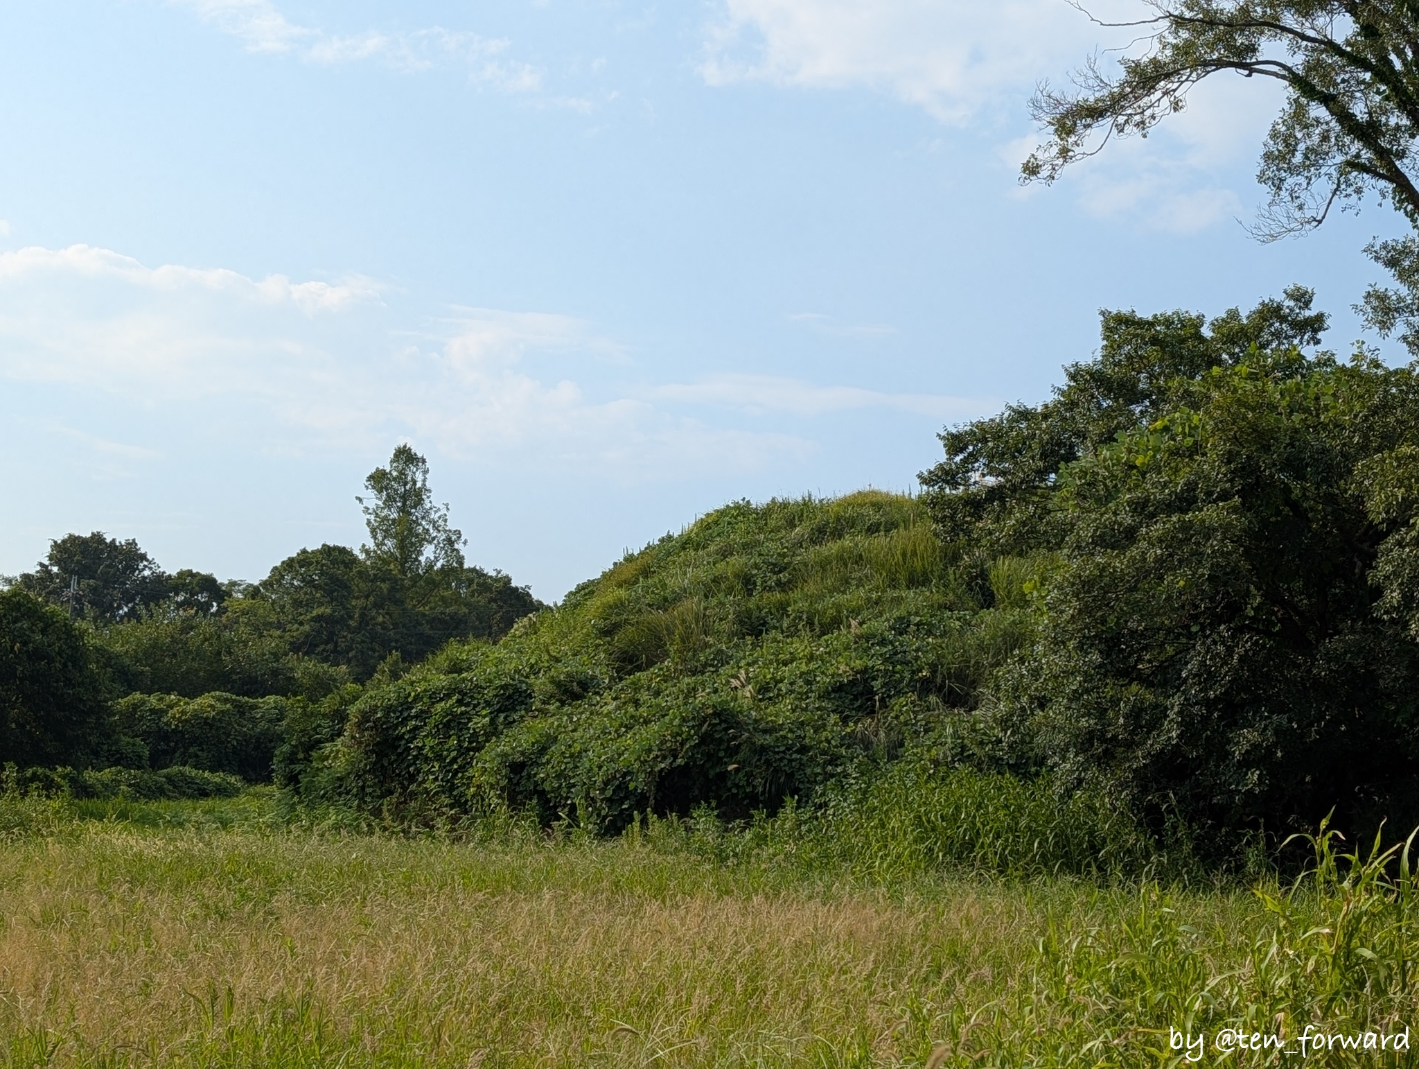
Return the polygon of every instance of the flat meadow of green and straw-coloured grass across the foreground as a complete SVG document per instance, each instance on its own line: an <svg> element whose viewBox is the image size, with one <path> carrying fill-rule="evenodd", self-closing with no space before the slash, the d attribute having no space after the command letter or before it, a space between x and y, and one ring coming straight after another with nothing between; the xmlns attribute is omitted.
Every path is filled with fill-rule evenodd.
<svg viewBox="0 0 1419 1069"><path fill-rule="evenodd" d="M263 792L0 799L0 1063L1148 1066L1178 1063L1169 1025L1393 1031L1415 1005L1393 866L1323 853L1264 896L883 882L782 849L725 862L701 842L722 835L460 842L294 828ZM1300 1062L1267 1058L1232 1060Z"/></svg>

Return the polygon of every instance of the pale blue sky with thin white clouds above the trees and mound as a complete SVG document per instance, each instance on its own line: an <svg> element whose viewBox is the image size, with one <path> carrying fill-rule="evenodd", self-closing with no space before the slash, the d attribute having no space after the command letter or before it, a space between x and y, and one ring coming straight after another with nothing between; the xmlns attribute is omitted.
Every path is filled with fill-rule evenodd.
<svg viewBox="0 0 1419 1069"><path fill-rule="evenodd" d="M1110 0L1108 14L1142 10ZM1022 190L1066 0L0 1L0 574L67 531L258 579L402 440L545 599L727 500L910 488L1100 308L1313 285L1230 80Z"/></svg>

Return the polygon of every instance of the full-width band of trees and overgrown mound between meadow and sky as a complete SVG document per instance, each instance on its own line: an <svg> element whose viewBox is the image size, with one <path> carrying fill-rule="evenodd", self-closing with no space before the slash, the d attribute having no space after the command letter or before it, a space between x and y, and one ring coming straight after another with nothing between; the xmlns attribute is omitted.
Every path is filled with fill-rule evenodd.
<svg viewBox="0 0 1419 1069"><path fill-rule="evenodd" d="M1324 329L1303 290L1107 314L1047 402L945 432L920 495L735 503L552 608L467 566L407 447L366 547L253 586L61 539L0 596L6 760L274 775L413 823L792 802L929 849L901 798L993 791L1077 823L1049 830L1076 859L1412 826L1419 371Z"/></svg>

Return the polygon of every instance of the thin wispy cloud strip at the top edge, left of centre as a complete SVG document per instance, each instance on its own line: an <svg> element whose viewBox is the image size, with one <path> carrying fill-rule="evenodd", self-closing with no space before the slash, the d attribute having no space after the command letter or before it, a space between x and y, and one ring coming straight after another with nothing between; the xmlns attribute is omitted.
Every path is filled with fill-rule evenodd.
<svg viewBox="0 0 1419 1069"><path fill-rule="evenodd" d="M507 57L509 41L430 27L413 33L368 30L328 34L291 23L271 0L169 0L245 43L253 53L292 53L316 64L382 62L397 71L461 65L470 80L507 92L541 88L541 72Z"/></svg>

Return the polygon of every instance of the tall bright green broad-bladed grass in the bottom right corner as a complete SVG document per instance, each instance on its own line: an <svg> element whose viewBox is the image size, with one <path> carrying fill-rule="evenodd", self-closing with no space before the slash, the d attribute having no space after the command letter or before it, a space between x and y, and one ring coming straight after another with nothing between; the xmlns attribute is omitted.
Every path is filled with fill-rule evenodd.
<svg viewBox="0 0 1419 1069"><path fill-rule="evenodd" d="M1198 924L1183 896L1156 884L1083 928L1049 917L1029 984L958 1012L938 1065L1419 1063L1412 836L1368 855L1342 853L1325 828L1307 838L1314 865L1256 887L1261 910L1242 930Z"/></svg>

